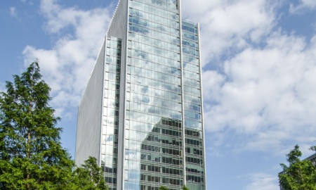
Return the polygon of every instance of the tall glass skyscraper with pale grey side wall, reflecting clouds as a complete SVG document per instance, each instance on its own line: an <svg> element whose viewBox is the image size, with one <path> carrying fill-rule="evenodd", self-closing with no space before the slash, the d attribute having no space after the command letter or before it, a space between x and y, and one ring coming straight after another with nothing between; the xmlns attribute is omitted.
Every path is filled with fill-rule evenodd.
<svg viewBox="0 0 316 190"><path fill-rule="evenodd" d="M199 25L180 0L121 0L81 100L76 163L110 189L206 189Z"/></svg>

